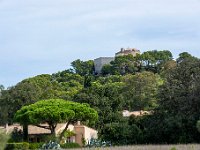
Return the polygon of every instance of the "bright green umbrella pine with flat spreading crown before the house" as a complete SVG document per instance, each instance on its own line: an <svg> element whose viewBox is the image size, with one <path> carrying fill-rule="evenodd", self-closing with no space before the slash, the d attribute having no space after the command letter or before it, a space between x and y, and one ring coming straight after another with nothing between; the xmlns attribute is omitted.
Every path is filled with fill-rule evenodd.
<svg viewBox="0 0 200 150"><path fill-rule="evenodd" d="M24 127L27 128L29 124L33 124L49 129L53 135L58 123L67 122L61 137L67 131L69 124L74 124L77 121L96 121L97 118L97 112L90 108L88 104L79 104L62 99L38 101L34 104L23 106L15 114L15 121ZM48 126L42 126L40 125L41 123L47 123ZM27 131L24 132L26 132L25 136L27 136Z"/></svg>

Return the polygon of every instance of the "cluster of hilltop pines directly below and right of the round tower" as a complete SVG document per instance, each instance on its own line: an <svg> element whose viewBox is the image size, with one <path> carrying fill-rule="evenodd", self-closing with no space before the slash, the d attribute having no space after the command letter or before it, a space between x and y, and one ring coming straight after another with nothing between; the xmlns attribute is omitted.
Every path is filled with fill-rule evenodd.
<svg viewBox="0 0 200 150"><path fill-rule="evenodd" d="M135 57L132 55L118 56L110 65L103 66L102 74L124 75L142 71L160 73L163 65L172 59L172 53L168 50L146 51Z"/></svg>

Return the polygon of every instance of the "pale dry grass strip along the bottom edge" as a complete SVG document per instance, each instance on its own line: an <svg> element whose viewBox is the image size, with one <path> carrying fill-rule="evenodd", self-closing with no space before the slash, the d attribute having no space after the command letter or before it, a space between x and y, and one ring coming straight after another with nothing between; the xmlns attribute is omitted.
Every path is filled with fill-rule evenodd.
<svg viewBox="0 0 200 150"><path fill-rule="evenodd" d="M84 148L76 150L200 150L200 145L137 145L106 148Z"/></svg>

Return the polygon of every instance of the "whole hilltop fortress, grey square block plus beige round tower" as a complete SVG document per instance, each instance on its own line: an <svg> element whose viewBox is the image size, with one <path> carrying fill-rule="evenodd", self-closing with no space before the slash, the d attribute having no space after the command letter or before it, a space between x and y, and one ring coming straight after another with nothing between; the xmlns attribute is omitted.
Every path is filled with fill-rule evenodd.
<svg viewBox="0 0 200 150"><path fill-rule="evenodd" d="M126 48L126 49L121 48L119 52L115 53L115 57L125 56L130 54L135 57L137 54L140 54L140 50L136 48ZM110 64L111 61L114 61L115 57L99 57L94 59L95 73L100 74L102 67L106 64Z"/></svg>

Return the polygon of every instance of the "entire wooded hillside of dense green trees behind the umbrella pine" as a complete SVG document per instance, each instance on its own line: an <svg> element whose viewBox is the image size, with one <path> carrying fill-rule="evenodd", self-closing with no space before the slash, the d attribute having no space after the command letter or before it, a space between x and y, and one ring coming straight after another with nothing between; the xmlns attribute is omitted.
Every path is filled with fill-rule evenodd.
<svg viewBox="0 0 200 150"><path fill-rule="evenodd" d="M72 68L1 87L0 123L13 123L22 106L62 98L88 103L99 114L99 137L117 145L198 143L200 59L184 52L147 51L116 57L94 73L94 62L75 60ZM122 111L150 111L123 117ZM87 122L85 122L87 124ZM88 124L90 125L90 124Z"/></svg>

